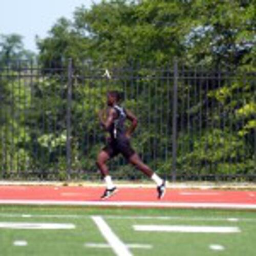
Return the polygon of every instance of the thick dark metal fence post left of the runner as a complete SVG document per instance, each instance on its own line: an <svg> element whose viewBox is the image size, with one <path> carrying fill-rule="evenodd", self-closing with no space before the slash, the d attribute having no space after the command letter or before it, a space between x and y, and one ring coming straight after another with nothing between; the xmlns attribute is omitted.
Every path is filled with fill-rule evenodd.
<svg viewBox="0 0 256 256"><path fill-rule="evenodd" d="M72 104L72 59L69 59L68 63L68 90L67 90L67 142L66 142L66 151L67 151L67 175L68 179L71 178L71 104Z"/></svg>

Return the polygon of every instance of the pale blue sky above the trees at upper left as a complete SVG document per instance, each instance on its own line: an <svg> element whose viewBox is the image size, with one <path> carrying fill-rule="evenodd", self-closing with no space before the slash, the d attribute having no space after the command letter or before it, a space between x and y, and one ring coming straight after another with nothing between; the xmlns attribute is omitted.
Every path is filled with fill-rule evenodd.
<svg viewBox="0 0 256 256"><path fill-rule="evenodd" d="M26 50L37 52L35 36L45 38L60 17L72 19L76 7L90 8L101 0L2 0L0 34L23 36Z"/></svg>

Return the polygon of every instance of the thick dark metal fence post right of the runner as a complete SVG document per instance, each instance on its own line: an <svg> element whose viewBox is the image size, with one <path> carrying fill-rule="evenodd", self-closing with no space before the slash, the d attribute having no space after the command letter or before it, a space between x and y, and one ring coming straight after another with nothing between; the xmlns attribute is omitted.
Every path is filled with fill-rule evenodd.
<svg viewBox="0 0 256 256"><path fill-rule="evenodd" d="M172 181L176 181L177 163L177 107L178 107L178 60L174 59L174 87L173 87L173 134L172 134Z"/></svg>

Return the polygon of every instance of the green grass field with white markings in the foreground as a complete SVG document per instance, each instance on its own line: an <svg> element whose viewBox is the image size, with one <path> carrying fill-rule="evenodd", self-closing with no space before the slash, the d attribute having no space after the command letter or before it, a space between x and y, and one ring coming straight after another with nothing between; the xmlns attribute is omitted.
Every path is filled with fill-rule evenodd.
<svg viewBox="0 0 256 256"><path fill-rule="evenodd" d="M102 217L129 248L131 255L249 256L256 253L255 211L0 206L0 254L118 255L109 246L92 216ZM73 224L74 228L11 229L3 227L3 223ZM138 231L135 225L235 227L239 232ZM27 244L17 246L15 241L26 241Z"/></svg>

